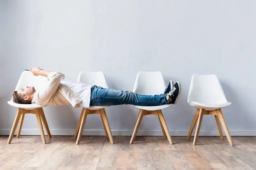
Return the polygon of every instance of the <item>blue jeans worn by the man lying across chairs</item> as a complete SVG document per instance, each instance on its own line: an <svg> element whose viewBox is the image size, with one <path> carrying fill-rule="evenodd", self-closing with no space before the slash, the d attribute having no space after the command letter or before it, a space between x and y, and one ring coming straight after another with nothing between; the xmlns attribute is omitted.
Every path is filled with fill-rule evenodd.
<svg viewBox="0 0 256 170"><path fill-rule="evenodd" d="M137 105L137 106L158 106L170 104L164 94L141 95L131 91L119 91L114 89L97 87L91 88L90 106L106 105Z"/></svg>

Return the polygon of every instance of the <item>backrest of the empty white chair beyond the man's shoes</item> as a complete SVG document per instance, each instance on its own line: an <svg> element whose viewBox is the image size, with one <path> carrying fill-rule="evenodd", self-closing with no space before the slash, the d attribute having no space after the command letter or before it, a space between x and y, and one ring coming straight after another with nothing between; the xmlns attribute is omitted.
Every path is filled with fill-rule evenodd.
<svg viewBox="0 0 256 170"><path fill-rule="evenodd" d="M227 102L217 76L194 74L189 87L188 102L220 104Z"/></svg>

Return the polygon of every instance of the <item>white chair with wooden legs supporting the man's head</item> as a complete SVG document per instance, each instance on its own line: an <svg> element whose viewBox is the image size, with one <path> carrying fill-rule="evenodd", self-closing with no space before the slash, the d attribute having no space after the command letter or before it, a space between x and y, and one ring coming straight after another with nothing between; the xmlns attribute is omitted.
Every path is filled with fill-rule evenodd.
<svg viewBox="0 0 256 170"><path fill-rule="evenodd" d="M24 88L26 85L34 86L35 89L38 89L41 86L43 86L45 83L47 83L47 81L48 81L47 77L34 76L30 71L23 71L20 76L20 79L17 83L17 86L15 88L15 91L19 90L20 88ZM18 111L17 111L16 117L15 117L15 121L13 123L12 130L11 130L7 144L10 144L12 142L12 137L15 133L15 130L16 130L16 127L17 127L17 124L19 121L20 121L20 124L19 124L18 131L17 131L17 138L20 137L20 131L22 128L23 119L24 119L24 116L26 113L32 113L32 114L36 115L39 130L41 133L41 138L42 138L42 141L44 144L46 143L46 140L45 140L45 136L44 136L44 129L42 126L41 118L43 120L47 135L49 136L49 138L52 138L45 115L44 115L44 111L43 111L43 107L45 107L46 105L43 106L43 105L38 105L38 104L17 104L15 102L13 102L12 99L10 101L8 101L8 104L18 108Z"/></svg>

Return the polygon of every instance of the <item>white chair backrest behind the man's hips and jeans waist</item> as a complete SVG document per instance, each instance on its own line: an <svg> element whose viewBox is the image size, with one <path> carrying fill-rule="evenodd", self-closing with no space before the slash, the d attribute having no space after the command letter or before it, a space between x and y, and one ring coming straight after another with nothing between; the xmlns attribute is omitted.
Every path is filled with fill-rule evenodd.
<svg viewBox="0 0 256 170"><path fill-rule="evenodd" d="M91 86L96 85L102 88L108 88L107 80L102 71L98 72L85 72L81 71L77 82L83 82L90 84Z"/></svg>

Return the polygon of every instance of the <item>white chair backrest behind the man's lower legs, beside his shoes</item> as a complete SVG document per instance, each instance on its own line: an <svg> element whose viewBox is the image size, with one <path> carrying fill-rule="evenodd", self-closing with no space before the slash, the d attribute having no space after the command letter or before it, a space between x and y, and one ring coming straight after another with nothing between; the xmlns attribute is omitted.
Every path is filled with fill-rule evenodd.
<svg viewBox="0 0 256 170"><path fill-rule="evenodd" d="M166 87L163 74L160 71L139 71L134 83L133 92L145 95L163 94Z"/></svg>

